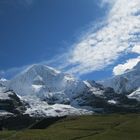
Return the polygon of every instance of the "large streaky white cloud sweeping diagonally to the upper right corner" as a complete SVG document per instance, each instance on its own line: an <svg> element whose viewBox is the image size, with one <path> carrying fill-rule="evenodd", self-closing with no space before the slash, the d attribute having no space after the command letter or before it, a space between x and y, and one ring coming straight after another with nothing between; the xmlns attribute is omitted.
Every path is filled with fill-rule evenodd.
<svg viewBox="0 0 140 140"><path fill-rule="evenodd" d="M116 0L110 4L113 4L112 9L99 30L91 27L90 32L68 52L69 57L65 63L73 65L68 72L81 75L101 70L128 53L139 42L140 1Z"/></svg>

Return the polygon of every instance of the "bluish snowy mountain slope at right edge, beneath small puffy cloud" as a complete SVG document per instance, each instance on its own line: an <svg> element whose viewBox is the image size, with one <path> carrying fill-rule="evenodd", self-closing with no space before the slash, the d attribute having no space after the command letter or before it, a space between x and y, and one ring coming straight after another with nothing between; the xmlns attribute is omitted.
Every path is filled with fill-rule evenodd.
<svg viewBox="0 0 140 140"><path fill-rule="evenodd" d="M140 62L124 74L100 82L105 87L112 87L116 93L130 94L140 87Z"/></svg>

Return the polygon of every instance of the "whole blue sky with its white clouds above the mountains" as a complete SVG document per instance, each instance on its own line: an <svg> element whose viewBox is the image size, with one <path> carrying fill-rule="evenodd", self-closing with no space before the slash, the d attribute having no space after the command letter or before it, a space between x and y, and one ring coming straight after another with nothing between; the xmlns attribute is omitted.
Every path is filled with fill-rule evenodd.
<svg viewBox="0 0 140 140"><path fill-rule="evenodd" d="M33 63L82 79L120 74L140 60L139 8L137 0L0 0L1 75Z"/></svg>

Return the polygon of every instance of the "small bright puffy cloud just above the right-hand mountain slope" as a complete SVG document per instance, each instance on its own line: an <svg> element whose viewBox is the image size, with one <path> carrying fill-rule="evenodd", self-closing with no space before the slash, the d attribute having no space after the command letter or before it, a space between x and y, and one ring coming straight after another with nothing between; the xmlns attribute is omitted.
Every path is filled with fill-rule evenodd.
<svg viewBox="0 0 140 140"><path fill-rule="evenodd" d="M114 75L123 74L126 70L132 69L137 63L140 62L140 57L127 60L124 64L119 64L113 69Z"/></svg>

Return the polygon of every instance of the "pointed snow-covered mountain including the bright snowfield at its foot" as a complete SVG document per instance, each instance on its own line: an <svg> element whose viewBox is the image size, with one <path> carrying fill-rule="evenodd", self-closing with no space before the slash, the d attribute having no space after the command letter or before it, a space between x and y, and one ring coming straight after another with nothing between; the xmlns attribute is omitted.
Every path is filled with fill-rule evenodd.
<svg viewBox="0 0 140 140"><path fill-rule="evenodd" d="M91 113L88 106L79 106L91 87L88 82L74 78L46 65L32 65L6 83L21 100L29 104L30 115L61 116ZM94 89L96 94L102 90ZM93 90L93 89L92 89ZM88 109L87 109L88 108Z"/></svg>

